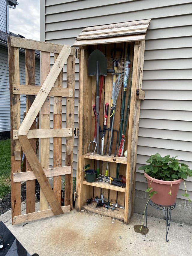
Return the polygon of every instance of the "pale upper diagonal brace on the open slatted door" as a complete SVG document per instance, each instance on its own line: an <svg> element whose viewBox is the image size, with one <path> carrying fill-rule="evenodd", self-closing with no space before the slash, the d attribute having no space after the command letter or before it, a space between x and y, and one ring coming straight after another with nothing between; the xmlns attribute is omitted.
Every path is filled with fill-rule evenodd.
<svg viewBox="0 0 192 256"><path fill-rule="evenodd" d="M49 74L47 75L41 90L35 98L32 106L30 107L28 113L26 114L25 119L23 120L21 126L19 127L19 135L26 135L31 127L33 121L38 115L44 101L46 100L47 95L49 94L52 84L55 83L60 71L62 70L67 58L70 54L71 47L63 46L57 60L52 66Z"/></svg>

